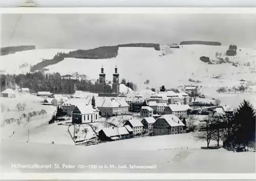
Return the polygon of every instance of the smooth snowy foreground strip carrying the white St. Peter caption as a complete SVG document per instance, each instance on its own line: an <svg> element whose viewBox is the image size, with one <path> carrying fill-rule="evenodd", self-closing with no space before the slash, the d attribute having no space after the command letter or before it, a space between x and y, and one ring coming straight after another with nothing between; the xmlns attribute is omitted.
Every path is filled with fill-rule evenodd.
<svg viewBox="0 0 256 181"><path fill-rule="evenodd" d="M125 150L41 143L1 142L1 170L24 173L123 172L123 173L251 173L255 153L220 150ZM14 165L16 164L16 165ZM48 168L18 168L20 165L47 165ZM65 164L65 165L62 165ZM69 165L70 164L70 165ZM152 169L118 168L131 165ZM78 169L80 165L80 168ZM97 165L97 168L95 167ZM17 166L17 167L15 167ZM64 166L64 167L63 167ZM74 168L72 167L74 166ZM99 168L99 167L103 168ZM108 166L108 168L104 168ZM110 168L114 166L116 168ZM51 167L51 168L50 168ZM59 168L58 168L59 167ZM89 168L90 167L90 168Z"/></svg>

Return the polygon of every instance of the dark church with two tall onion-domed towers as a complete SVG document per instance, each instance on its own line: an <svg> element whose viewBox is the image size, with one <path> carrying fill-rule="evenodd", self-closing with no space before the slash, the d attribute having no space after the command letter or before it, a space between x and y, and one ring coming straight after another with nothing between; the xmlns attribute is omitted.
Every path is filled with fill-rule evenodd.
<svg viewBox="0 0 256 181"><path fill-rule="evenodd" d="M119 84L119 74L117 65L115 67L115 72L113 74L112 86L106 84L106 74L104 73L104 67L102 65L101 72L99 74L99 84L98 84L98 95L99 97L117 97L120 94L120 84Z"/></svg>

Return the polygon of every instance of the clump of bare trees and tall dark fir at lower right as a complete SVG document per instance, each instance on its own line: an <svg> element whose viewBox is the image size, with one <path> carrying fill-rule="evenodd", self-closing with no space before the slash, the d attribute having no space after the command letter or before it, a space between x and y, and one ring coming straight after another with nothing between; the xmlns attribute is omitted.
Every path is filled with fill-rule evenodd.
<svg viewBox="0 0 256 181"><path fill-rule="evenodd" d="M199 124L199 131L195 133L197 140L207 142L225 141L225 146L234 148L236 145L247 146L250 141L255 142L255 111L249 101L243 101L239 108L229 115L212 115L208 120Z"/></svg>

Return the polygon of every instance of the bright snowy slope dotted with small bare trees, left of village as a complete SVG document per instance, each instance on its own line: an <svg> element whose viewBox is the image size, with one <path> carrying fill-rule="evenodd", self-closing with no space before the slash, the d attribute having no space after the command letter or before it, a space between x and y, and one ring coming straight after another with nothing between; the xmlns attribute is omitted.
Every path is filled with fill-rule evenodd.
<svg viewBox="0 0 256 181"><path fill-rule="evenodd" d="M39 101L42 99L43 98L30 94L16 94L16 98L1 97L0 102L4 107L3 111L1 112L1 139L3 140L8 138L13 133L13 131L15 134L18 134L19 131L24 132L25 130L27 131L28 129L33 129L37 126L40 126L41 124L48 123L53 115L53 112L56 111L56 107L41 105ZM24 111L18 111L16 108L18 103L26 104ZM33 116L29 122L27 121L26 117L20 120L20 125L18 125L16 121L11 124L7 124L5 122L6 119L18 119L22 117L23 114L28 115L28 112L40 111L41 109L45 109L47 114Z"/></svg>

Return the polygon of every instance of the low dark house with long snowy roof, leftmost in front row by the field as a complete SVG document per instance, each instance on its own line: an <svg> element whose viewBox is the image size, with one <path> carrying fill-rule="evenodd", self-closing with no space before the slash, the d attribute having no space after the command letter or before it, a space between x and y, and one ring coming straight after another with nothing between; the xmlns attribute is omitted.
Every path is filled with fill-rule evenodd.
<svg viewBox="0 0 256 181"><path fill-rule="evenodd" d="M123 127L103 128L98 132L98 138L101 141L114 141L129 136L130 133Z"/></svg>

